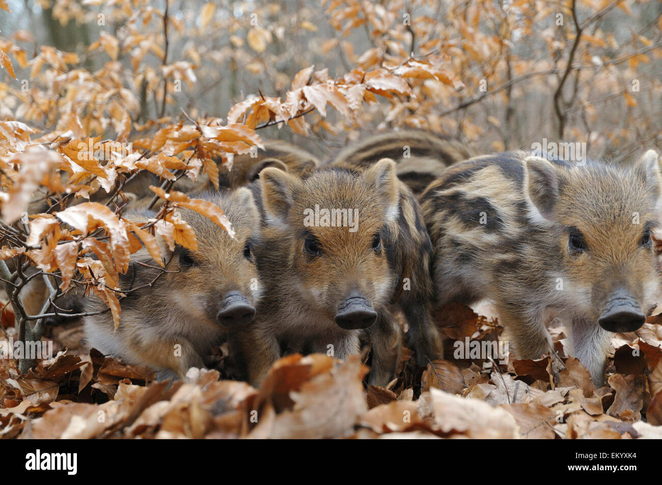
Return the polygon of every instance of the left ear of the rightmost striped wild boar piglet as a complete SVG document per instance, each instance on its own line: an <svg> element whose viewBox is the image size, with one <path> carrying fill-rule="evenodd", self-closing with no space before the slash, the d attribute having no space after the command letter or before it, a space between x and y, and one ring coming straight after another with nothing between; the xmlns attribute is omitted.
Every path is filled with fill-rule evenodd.
<svg viewBox="0 0 662 485"><path fill-rule="evenodd" d="M551 161L530 156L524 159L524 195L533 222L547 225L559 197L559 173Z"/></svg>

